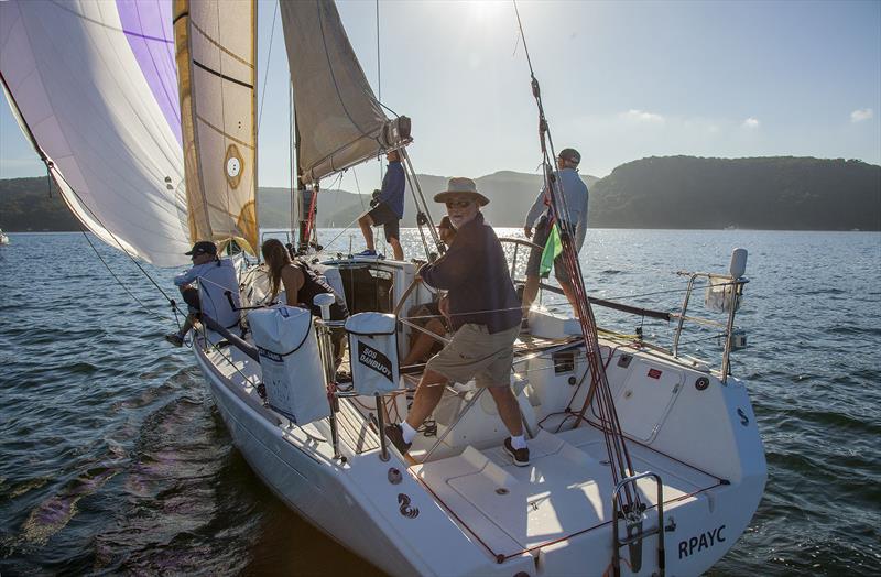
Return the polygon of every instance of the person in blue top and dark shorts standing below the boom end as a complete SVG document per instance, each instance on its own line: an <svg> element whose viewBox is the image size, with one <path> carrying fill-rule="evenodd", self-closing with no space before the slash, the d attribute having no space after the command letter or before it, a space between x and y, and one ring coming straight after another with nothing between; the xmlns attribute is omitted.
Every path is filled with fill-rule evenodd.
<svg viewBox="0 0 881 577"><path fill-rule="evenodd" d="M404 217L404 167L401 165L401 155L396 150L385 154L389 161L389 168L382 178L382 189L374 203L370 203L373 208L358 218L358 226L365 236L367 250L358 253L358 257L376 257L377 250L373 244L373 230L370 227L382 225L385 232L385 242L392 246L394 260L404 260L404 251L401 249L401 219Z"/></svg>

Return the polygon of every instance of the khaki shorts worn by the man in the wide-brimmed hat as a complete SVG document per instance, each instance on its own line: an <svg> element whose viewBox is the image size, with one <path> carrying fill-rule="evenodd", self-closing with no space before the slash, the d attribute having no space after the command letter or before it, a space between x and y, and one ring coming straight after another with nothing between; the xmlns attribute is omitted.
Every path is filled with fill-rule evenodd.
<svg viewBox="0 0 881 577"><path fill-rule="evenodd" d="M520 325L490 334L485 325L465 324L425 368L457 383L475 379L477 387L508 387L518 335Z"/></svg>

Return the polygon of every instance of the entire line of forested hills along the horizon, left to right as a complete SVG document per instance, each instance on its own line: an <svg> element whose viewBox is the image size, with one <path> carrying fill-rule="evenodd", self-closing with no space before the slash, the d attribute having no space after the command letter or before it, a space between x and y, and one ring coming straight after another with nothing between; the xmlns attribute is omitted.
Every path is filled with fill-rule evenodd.
<svg viewBox="0 0 881 577"><path fill-rule="evenodd" d="M622 164L602 179L583 179L590 188L595 228L881 230L881 166L861 161L649 157ZM540 176L510 171L476 181L491 200L485 211L496 226L522 226L541 187ZM421 175L420 182L431 203L446 177ZM367 194L325 190L319 196L319 225L345 227L368 200ZM285 189L261 188L261 226L286 228L289 206ZM403 226L415 226L410 193L405 207ZM435 218L440 214L438 206ZM55 190L50 197L45 177L0 181L0 228L79 230L59 194Z"/></svg>

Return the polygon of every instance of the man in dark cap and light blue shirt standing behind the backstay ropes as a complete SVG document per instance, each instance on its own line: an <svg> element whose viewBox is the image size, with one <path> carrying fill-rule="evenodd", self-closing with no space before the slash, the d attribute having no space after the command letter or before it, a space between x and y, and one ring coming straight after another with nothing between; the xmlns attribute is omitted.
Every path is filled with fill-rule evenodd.
<svg viewBox="0 0 881 577"><path fill-rule="evenodd" d="M587 199L588 192L581 177L578 175L578 164L581 162L581 155L575 149L563 149L557 155L557 171L556 177L558 186L563 189L565 196L565 208L567 214L558 215L559 219L557 226L561 233L566 232L569 238L575 242L575 252L581 250L581 244L585 242L585 233L587 232ZM559 190L557 190L558 193ZM559 207L562 211L563 206ZM539 221L537 225L535 221ZM532 227L535 226L535 238L532 236ZM544 248L547 242L547 237L551 235L551 218L550 210L545 204L545 189L539 193L535 202L532 204L530 211L526 214L526 221L523 227L523 232L527 239L532 239L535 244ZM535 295L539 293L539 265L542 261L542 249L532 249L530 253L529 263L526 263L526 286L523 288L523 317L525 318L535 301ZM563 254L554 259L554 275L559 283L563 293L569 301L573 311L577 311L575 306L575 290L573 288L569 273L566 271L566 265Z"/></svg>

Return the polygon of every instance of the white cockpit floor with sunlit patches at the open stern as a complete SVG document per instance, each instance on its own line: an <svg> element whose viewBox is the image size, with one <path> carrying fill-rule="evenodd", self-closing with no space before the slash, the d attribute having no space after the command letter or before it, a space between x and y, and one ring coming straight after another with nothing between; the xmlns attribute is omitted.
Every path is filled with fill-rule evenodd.
<svg viewBox="0 0 881 577"><path fill-rule="evenodd" d="M719 479L643 446L630 444L638 472L664 482L665 510L703 501ZM415 465L411 471L493 556L510 557L611 521L613 483L602 433L583 426L530 440L531 465L516 467L501 447ZM642 502L656 504L651 479L638 481Z"/></svg>

